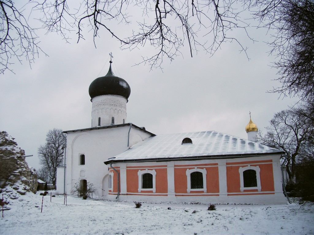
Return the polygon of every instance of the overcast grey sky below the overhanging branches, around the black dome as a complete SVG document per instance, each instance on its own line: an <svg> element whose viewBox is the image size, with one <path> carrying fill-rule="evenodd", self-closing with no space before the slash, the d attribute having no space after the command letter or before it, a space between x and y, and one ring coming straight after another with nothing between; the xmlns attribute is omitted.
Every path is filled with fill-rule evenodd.
<svg viewBox="0 0 314 235"><path fill-rule="evenodd" d="M249 49L250 60L239 53L236 43L225 43L213 57L203 51L189 55L187 47L170 63L164 60L163 70L150 71L149 65L133 66L142 55L151 55L151 48L120 50L120 44L102 33L71 44L57 34L39 32L40 54L31 64L11 66L15 74L0 75L0 130L15 138L25 150L26 160L35 169L37 149L45 144L49 129L72 130L91 126L92 103L88 94L90 83L106 75L109 53L113 71L131 87L126 122L144 126L154 134L215 130L247 138L249 112L259 129L268 126L275 112L294 105L297 98L279 98L267 93L278 86L276 70L271 68L273 56L263 41L265 31L250 29L258 42L242 38Z"/></svg>

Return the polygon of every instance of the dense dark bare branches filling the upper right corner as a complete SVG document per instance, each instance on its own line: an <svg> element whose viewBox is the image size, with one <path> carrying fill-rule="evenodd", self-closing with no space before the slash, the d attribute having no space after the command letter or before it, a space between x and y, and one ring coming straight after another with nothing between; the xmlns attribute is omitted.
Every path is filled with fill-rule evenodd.
<svg viewBox="0 0 314 235"><path fill-rule="evenodd" d="M314 99L314 2L312 0L256 0L255 17L261 27L275 30L271 53L277 55L281 86L273 89L284 95Z"/></svg>

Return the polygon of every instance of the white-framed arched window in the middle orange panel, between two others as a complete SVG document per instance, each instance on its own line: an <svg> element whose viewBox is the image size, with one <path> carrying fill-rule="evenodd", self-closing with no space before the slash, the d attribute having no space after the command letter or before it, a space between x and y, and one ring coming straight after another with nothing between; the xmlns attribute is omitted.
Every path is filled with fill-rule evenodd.
<svg viewBox="0 0 314 235"><path fill-rule="evenodd" d="M204 191L207 192L206 187L206 169L193 168L187 169L187 193L191 191Z"/></svg>

